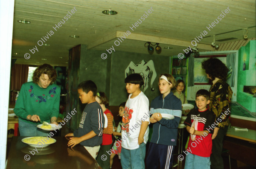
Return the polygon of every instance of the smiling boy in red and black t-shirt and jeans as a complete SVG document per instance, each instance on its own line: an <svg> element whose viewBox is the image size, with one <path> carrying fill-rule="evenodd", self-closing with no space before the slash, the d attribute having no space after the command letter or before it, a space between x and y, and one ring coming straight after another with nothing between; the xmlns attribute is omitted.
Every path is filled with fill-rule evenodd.
<svg viewBox="0 0 256 169"><path fill-rule="evenodd" d="M189 138L185 169L210 169L213 130L207 127L215 121L215 115L207 109L207 104L210 103L210 93L204 89L198 90L195 103L197 108L192 109L184 121L186 130L192 136L195 135L195 139L192 136Z"/></svg>

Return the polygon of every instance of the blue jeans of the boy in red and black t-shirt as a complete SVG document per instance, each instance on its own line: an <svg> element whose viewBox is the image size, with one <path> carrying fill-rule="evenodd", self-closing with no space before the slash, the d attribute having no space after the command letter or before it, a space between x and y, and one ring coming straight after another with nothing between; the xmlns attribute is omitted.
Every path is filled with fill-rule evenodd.
<svg viewBox="0 0 256 169"><path fill-rule="evenodd" d="M211 162L209 157L201 157L189 153L186 155L184 169L210 169Z"/></svg>

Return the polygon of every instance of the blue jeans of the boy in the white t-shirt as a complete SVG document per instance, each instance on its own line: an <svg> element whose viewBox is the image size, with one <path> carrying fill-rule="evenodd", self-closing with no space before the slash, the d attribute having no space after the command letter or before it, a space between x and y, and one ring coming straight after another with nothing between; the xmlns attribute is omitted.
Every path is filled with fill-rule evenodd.
<svg viewBox="0 0 256 169"><path fill-rule="evenodd" d="M137 149L121 150L122 169L145 169L146 144L143 142Z"/></svg>

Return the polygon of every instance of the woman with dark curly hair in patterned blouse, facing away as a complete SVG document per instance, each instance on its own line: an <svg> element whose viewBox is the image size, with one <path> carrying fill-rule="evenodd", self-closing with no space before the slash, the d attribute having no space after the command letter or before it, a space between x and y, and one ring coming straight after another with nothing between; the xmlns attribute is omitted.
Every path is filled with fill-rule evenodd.
<svg viewBox="0 0 256 169"><path fill-rule="evenodd" d="M230 85L226 83L228 68L217 58L210 58L202 62L202 68L205 70L209 81L212 82L209 90L209 110L216 116L214 133L212 134L211 168L224 169L221 157L222 143L230 124L230 102L233 94Z"/></svg>

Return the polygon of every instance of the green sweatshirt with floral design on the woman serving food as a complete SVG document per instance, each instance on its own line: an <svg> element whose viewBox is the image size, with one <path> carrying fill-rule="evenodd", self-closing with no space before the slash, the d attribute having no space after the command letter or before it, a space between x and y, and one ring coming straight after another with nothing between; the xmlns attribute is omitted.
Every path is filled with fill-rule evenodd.
<svg viewBox="0 0 256 169"><path fill-rule="evenodd" d="M27 123L35 124L26 119L28 115L39 115L41 121L49 122L52 117L58 117L60 93L60 87L55 84L44 89L33 82L26 82L21 86L14 112Z"/></svg>

